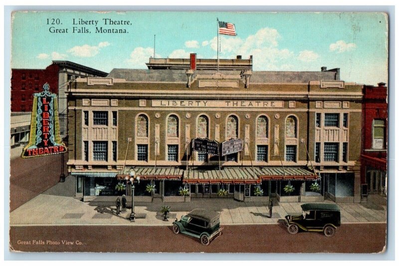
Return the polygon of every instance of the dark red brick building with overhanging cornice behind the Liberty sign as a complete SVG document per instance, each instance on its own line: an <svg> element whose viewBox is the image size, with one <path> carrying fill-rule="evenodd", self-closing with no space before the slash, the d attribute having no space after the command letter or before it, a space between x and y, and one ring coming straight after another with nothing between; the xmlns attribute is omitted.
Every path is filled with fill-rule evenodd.
<svg viewBox="0 0 399 266"><path fill-rule="evenodd" d="M70 81L79 77L105 77L107 73L69 61L52 61L45 69L11 70L11 112L31 112L33 94L42 91L45 83L58 94L60 133L66 134L66 96Z"/></svg>

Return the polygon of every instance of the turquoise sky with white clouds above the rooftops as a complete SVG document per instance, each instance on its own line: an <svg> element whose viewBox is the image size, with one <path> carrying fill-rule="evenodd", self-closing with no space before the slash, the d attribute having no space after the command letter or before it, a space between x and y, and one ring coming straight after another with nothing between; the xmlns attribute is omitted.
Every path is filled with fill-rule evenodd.
<svg viewBox="0 0 399 266"><path fill-rule="evenodd" d="M347 82L388 83L388 17L373 12L16 12L11 67L68 60L105 72L145 69L154 35L157 58L216 58L216 18L234 23L237 32L220 35L220 58L252 55L258 71L340 68Z"/></svg>

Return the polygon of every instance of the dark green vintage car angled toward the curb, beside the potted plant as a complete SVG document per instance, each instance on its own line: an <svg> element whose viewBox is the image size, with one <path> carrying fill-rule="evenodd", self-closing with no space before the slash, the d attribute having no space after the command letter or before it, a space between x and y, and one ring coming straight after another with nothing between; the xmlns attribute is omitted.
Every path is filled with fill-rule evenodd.
<svg viewBox="0 0 399 266"><path fill-rule="evenodd" d="M205 209L194 209L182 219L173 223L175 234L185 234L199 238L202 245L209 245L210 241L221 236L220 214Z"/></svg>

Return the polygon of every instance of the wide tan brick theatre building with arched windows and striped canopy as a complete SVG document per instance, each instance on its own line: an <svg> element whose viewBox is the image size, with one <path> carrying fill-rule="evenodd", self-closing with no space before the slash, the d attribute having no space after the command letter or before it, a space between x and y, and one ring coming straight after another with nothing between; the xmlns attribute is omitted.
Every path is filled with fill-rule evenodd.
<svg viewBox="0 0 399 266"><path fill-rule="evenodd" d="M181 69L113 69L73 82L68 170L76 197L129 195L125 177L134 170L137 201L360 202L361 85L341 81L339 69L220 64L226 68L199 70L194 57Z"/></svg>

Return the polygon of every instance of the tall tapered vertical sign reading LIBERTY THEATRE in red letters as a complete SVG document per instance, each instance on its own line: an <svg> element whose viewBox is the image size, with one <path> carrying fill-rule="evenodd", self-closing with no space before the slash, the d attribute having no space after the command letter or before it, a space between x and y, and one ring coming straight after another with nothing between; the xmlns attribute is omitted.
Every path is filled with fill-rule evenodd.
<svg viewBox="0 0 399 266"><path fill-rule="evenodd" d="M64 153L67 150L59 133L57 95L49 89L46 83L41 93L33 94L29 143L22 150L22 158Z"/></svg>

